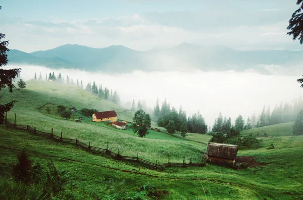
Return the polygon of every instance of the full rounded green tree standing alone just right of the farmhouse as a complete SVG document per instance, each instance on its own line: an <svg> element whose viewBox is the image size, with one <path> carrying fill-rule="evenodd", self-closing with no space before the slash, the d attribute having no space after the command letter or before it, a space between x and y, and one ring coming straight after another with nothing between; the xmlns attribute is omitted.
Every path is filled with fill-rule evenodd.
<svg viewBox="0 0 303 200"><path fill-rule="evenodd" d="M134 134L138 134L139 137L143 138L148 135L148 127L150 126L150 116L146 114L142 109L135 112L133 117L133 123L130 126Z"/></svg>

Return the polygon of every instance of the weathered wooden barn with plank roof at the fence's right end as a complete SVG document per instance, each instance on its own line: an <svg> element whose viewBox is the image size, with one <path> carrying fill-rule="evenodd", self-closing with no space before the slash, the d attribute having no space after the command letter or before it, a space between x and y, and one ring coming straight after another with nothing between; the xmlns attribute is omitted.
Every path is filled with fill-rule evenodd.
<svg viewBox="0 0 303 200"><path fill-rule="evenodd" d="M237 145L209 142L206 155L210 161L235 162L238 152Z"/></svg>

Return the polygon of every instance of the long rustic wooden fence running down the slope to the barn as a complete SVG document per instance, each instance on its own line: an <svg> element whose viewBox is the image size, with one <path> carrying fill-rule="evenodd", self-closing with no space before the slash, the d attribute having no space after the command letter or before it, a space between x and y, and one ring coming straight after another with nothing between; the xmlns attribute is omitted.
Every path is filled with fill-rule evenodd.
<svg viewBox="0 0 303 200"><path fill-rule="evenodd" d="M163 168L166 168L166 167L189 167L189 166L200 166L200 167L204 167L206 164L205 162L203 163L193 163L191 162L191 159L190 159L190 162L189 163L185 163L185 158L183 158L183 163L172 163L170 162L170 156L168 155L168 163L157 163L157 160L155 163L152 163L152 162L149 162L149 161L146 161L146 160L143 160L141 158L139 158L138 154L137 154L137 157L132 157L132 156L123 156L119 153L119 150L118 150L118 153L115 153L115 152L112 152L108 149L108 145L106 147L106 149L103 149L103 148L99 148L99 147L93 147L93 146L90 146L90 143L87 145L87 144L84 144L82 142L80 142L78 140L78 138L75 139L68 139L68 138L63 138L62 137L62 132L61 132L61 136L56 136L55 134L53 134L53 128L52 128L52 132L43 132L43 131L40 131L40 130L37 130L36 127L31 127L29 125L27 126L22 126L22 125L17 125L16 124L16 116L15 116L15 122L14 123L11 123L9 122L8 120L6 120L6 125L7 126L10 126L10 127L14 127L16 129L21 129L21 130L27 130L29 131L31 134L34 134L34 135L37 135L37 136L43 136L43 137L47 137L49 139L52 139L54 141L57 141L57 142L61 142L61 143L69 143L69 144L74 144L92 154L102 154L102 155L109 155L111 156L113 159L116 159L116 160L122 160L122 161L130 161L130 162L136 162L136 163L140 163L141 165L145 166L145 167L148 167L150 169L163 169Z"/></svg>

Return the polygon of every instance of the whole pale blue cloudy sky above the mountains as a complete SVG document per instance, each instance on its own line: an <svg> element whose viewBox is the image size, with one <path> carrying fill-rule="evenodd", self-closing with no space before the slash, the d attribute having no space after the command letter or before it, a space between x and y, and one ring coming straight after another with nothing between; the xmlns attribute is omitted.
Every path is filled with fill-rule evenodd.
<svg viewBox="0 0 303 200"><path fill-rule="evenodd" d="M303 50L286 35L296 0L2 0L1 32L25 52L64 44L135 50L183 42Z"/></svg>

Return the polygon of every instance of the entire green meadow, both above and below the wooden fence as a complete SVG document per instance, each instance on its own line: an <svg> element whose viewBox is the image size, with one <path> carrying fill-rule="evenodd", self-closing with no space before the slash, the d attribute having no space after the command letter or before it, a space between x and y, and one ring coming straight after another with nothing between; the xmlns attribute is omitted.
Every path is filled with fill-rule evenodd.
<svg viewBox="0 0 303 200"><path fill-rule="evenodd" d="M63 131L64 138L78 138L96 147L105 148L108 143L111 151L119 149L122 155L136 156L139 153L140 158L164 163L168 161L169 154L171 162L182 162L183 157L186 162L190 158L199 162L206 151L206 145L162 132L150 130L146 138L139 138L130 128L118 130L106 123L92 122L89 118L79 123L59 118L56 112L47 114L43 108L38 109L51 102L66 107L72 105L77 109L125 110L73 86L28 81L26 89L14 89L13 93L2 90L0 95L4 95L2 100L7 102L17 100L8 113L11 122L17 113L17 124L28 124L47 132L53 127L56 135ZM118 114L118 118L131 121L132 115L132 112L125 111L121 112L121 117ZM254 135L266 131L273 136L262 139L258 149L242 148L238 151L238 156L253 156L260 162L258 167L234 170L208 163L206 167L166 168L164 171L92 155L72 144L59 144L29 135L27 131L0 125L0 171L3 172L0 173L0 199L37 199L39 196L39 188L21 187L10 179L12 165L25 147L34 163L45 166L48 160L52 160L58 169L69 173L74 186L66 185L66 193L59 199L156 199L140 189L147 184L168 192L158 199L303 199L303 136L290 135L291 125L284 123L248 130ZM248 134L248 131L243 134ZM207 143L210 138L208 135L188 134L188 139L200 142ZM267 149L271 144L275 148ZM22 188L26 188L26 195L21 193Z"/></svg>

